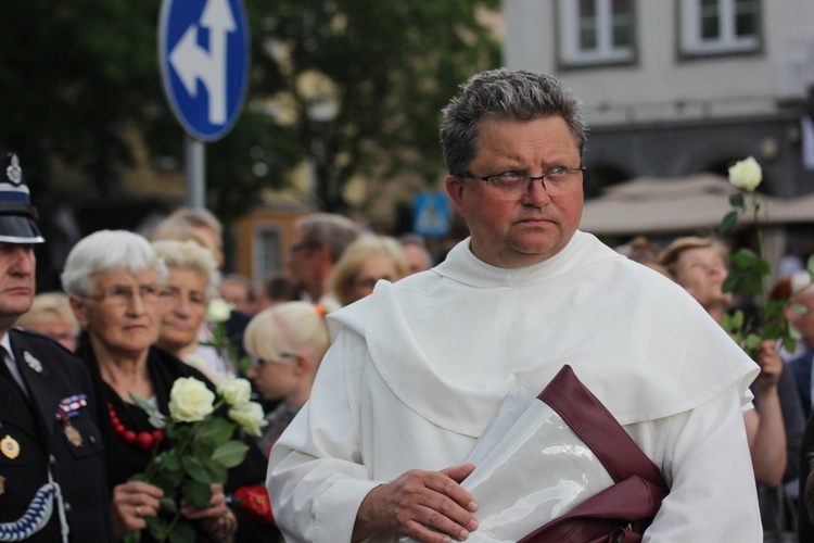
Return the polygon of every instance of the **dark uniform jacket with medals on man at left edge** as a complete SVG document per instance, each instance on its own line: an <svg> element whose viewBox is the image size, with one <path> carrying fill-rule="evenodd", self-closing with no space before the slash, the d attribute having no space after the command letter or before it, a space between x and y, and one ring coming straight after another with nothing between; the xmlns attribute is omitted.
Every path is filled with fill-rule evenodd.
<svg viewBox="0 0 814 543"><path fill-rule="evenodd" d="M0 439L8 435L20 451L14 458L0 454L0 522L20 519L48 482L50 465L62 489L71 541L112 541L104 446L88 371L73 353L44 336L12 329L9 339L28 399L0 378ZM62 400L79 394L88 405L69 419L81 435L81 445L75 446L58 414ZM26 541L61 541L56 508L43 529Z"/></svg>

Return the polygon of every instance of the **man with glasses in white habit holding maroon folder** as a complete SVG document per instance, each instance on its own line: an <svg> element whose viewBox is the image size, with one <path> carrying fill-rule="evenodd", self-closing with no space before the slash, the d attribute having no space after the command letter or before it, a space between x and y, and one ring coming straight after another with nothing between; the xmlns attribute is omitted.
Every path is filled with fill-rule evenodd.
<svg viewBox="0 0 814 543"><path fill-rule="evenodd" d="M670 488L645 541L761 541L741 415L758 368L683 289L577 230L578 105L550 76L497 70L444 110L470 237L329 317L310 402L269 458L288 541L476 539L468 457L507 395L564 365Z"/></svg>

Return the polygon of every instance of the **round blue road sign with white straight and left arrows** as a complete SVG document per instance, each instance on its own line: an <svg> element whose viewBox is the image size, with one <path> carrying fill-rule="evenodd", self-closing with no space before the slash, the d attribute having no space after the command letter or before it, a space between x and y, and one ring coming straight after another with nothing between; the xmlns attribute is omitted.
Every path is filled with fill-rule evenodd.
<svg viewBox="0 0 814 543"><path fill-rule="evenodd" d="M164 0L158 63L185 130L201 141L224 137L238 119L249 77L242 0Z"/></svg>

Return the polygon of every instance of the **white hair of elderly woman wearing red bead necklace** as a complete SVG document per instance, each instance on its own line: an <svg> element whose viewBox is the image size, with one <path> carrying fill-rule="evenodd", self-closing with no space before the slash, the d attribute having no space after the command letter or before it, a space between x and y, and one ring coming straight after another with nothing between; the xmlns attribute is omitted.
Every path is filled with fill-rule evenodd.
<svg viewBox="0 0 814 543"><path fill-rule="evenodd" d="M162 286L167 279L167 267L142 236L127 230L99 230L71 250L60 276L62 289L87 298L93 292L99 274L118 269L133 275L155 270Z"/></svg>

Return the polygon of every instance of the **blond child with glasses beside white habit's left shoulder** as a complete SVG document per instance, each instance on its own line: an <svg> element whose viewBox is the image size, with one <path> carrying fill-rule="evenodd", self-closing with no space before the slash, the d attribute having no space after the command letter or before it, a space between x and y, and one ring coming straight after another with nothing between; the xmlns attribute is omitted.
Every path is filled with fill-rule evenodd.
<svg viewBox="0 0 814 543"><path fill-rule="evenodd" d="M330 344L325 312L308 302L287 302L262 311L243 336L252 356L249 377L266 400L279 400L266 415L269 422L258 438L268 456L277 438L308 401L317 368Z"/></svg>

